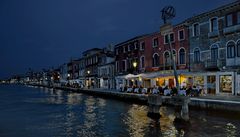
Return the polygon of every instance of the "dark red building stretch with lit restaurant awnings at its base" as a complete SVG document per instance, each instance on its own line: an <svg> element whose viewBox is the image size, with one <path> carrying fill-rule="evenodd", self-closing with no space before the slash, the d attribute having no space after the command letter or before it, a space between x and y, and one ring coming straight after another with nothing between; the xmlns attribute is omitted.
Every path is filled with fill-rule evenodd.
<svg viewBox="0 0 240 137"><path fill-rule="evenodd" d="M115 51L117 88L121 84L175 86L171 53L180 74L180 84L185 86L187 83L188 78L184 74L189 69L189 42L188 29L184 23L173 27L170 24L163 25L159 32L117 44Z"/></svg>

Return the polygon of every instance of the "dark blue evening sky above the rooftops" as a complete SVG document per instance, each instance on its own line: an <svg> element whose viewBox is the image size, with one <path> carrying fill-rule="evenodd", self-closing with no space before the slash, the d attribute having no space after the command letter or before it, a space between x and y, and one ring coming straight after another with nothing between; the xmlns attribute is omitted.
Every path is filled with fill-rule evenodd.
<svg viewBox="0 0 240 137"><path fill-rule="evenodd" d="M84 50L158 31L234 0L0 0L0 78L58 66Z"/></svg>

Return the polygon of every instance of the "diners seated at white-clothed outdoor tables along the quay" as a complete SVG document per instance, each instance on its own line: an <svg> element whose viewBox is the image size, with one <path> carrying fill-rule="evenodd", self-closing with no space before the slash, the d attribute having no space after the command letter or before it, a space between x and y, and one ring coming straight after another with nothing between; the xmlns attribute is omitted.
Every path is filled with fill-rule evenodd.
<svg viewBox="0 0 240 137"><path fill-rule="evenodd" d="M137 86L127 86L120 87L121 92L127 93L139 93L139 94L160 94L164 96L174 96L174 95L182 95L182 96L199 96L203 93L203 89L200 86L189 86L189 87L181 87L178 91L176 87L169 86L153 86L150 88L144 88L142 85Z"/></svg>

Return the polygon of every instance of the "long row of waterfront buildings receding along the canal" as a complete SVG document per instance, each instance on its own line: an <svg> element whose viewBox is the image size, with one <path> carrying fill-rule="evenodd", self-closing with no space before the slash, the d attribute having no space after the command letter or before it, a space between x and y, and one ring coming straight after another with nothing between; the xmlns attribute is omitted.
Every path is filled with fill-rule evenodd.
<svg viewBox="0 0 240 137"><path fill-rule="evenodd" d="M87 50L42 80L107 89L174 87L171 55L181 87L199 86L208 94L239 94L240 2L177 25L164 24L157 32L116 45Z"/></svg>

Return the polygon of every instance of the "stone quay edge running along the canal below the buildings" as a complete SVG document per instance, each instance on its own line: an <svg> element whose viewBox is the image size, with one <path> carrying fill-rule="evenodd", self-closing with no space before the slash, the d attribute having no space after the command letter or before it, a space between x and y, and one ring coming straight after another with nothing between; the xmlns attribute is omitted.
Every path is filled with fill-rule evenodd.
<svg viewBox="0 0 240 137"><path fill-rule="evenodd" d="M98 88L71 88L71 87L47 87L43 85L31 85L38 87L46 87L65 90L69 92L84 93L92 96L104 98L118 99L124 102L139 103L147 105L148 94L126 93L117 90L98 89ZM162 96L164 105L174 105L171 101L171 96ZM240 97L239 96L221 96L221 95L206 95L199 97L190 97L190 108L206 109L206 110L224 110L229 112L240 113Z"/></svg>

